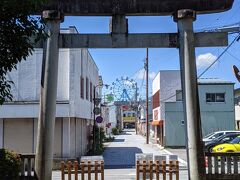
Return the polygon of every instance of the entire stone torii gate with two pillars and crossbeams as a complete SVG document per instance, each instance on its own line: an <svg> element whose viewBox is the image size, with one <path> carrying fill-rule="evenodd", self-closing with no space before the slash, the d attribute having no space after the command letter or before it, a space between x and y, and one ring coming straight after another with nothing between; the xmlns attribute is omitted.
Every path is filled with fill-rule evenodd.
<svg viewBox="0 0 240 180"><path fill-rule="evenodd" d="M52 0L39 8L49 37L44 47L35 170L52 175L58 48L179 48L189 179L205 179L195 47L225 46L226 33L194 33L196 14L222 12L234 0ZM109 34L60 34L65 16L112 16ZM129 34L125 16L173 15L178 33Z"/></svg>

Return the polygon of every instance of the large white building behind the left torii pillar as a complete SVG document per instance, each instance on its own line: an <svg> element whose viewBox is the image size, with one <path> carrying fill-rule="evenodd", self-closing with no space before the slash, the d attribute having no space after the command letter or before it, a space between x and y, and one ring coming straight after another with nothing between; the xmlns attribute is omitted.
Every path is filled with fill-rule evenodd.
<svg viewBox="0 0 240 180"><path fill-rule="evenodd" d="M62 33L77 33L74 27ZM39 115L42 49L9 73L13 102L0 107L0 148L34 153ZM59 49L54 157L79 157L91 147L93 89L98 68L87 49Z"/></svg>

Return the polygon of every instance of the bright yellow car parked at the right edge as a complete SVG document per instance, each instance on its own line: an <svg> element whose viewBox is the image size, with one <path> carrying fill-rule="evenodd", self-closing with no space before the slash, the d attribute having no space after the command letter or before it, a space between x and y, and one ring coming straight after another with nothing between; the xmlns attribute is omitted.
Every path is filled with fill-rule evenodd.
<svg viewBox="0 0 240 180"><path fill-rule="evenodd" d="M229 143L215 146L212 152L240 152L240 136L237 136Z"/></svg>

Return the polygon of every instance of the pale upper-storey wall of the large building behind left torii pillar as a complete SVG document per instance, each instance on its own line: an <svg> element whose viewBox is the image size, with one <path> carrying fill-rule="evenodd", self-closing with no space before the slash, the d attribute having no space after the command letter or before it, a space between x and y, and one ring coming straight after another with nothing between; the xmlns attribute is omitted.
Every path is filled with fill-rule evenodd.
<svg viewBox="0 0 240 180"><path fill-rule="evenodd" d="M0 118L35 118L39 114L42 49L17 65L8 73L14 82L14 103L0 109ZM80 77L84 77L84 98L80 98ZM89 79L89 99L86 99L86 77ZM90 102L90 82L98 84L98 68L87 49L60 49L57 87L57 117L92 119L93 103ZM93 91L93 89L92 89ZM62 104L65 104L64 107Z"/></svg>

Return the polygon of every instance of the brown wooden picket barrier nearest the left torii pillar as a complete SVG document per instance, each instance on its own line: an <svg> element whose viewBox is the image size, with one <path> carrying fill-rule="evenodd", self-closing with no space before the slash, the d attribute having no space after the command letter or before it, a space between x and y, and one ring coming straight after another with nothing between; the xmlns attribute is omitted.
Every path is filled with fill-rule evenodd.
<svg viewBox="0 0 240 180"><path fill-rule="evenodd" d="M94 180L98 180L100 175L101 180L104 180L104 161L68 161L61 162L61 180L65 180L65 174L67 174L68 180L78 180L78 175L81 174L81 180L91 180L92 176Z"/></svg>

